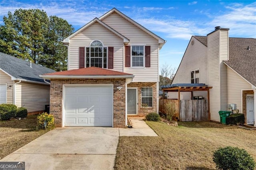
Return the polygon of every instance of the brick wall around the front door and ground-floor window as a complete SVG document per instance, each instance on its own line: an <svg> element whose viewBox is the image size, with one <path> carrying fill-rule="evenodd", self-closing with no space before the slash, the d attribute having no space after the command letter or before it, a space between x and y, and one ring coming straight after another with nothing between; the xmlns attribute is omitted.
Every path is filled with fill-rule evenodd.
<svg viewBox="0 0 256 170"><path fill-rule="evenodd" d="M145 117L148 113L157 112L158 88L156 85L155 82L132 82L127 85L127 87L138 87L138 115L128 115L128 117ZM153 87L153 107L146 109L142 107L141 87Z"/></svg>

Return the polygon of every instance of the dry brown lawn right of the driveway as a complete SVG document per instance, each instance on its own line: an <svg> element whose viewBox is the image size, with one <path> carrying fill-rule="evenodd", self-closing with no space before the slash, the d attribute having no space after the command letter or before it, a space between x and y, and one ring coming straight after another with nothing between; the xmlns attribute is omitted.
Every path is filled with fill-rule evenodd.
<svg viewBox="0 0 256 170"><path fill-rule="evenodd" d="M213 122L146 122L159 136L119 138L115 169L215 169L219 147L244 148L256 160L256 130Z"/></svg>

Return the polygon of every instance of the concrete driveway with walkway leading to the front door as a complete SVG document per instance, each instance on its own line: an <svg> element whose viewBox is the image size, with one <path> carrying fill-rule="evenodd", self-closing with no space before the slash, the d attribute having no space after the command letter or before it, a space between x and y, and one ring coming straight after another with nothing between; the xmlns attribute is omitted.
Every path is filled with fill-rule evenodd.
<svg viewBox="0 0 256 170"><path fill-rule="evenodd" d="M134 128L56 128L0 162L25 162L26 170L113 169L119 136L157 136L142 119L131 121Z"/></svg>

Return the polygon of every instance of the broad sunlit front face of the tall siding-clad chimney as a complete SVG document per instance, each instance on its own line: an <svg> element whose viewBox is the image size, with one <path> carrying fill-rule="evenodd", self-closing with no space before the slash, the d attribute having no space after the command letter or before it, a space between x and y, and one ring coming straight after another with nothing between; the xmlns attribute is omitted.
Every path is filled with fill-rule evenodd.
<svg viewBox="0 0 256 170"><path fill-rule="evenodd" d="M219 31L208 35L208 85L210 89L210 114L212 121L220 121L220 37Z"/></svg>

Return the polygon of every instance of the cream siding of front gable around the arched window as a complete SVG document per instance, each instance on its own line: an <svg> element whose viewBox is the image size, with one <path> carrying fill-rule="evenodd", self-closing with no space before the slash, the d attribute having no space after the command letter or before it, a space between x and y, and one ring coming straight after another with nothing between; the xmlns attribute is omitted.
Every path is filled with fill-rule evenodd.
<svg viewBox="0 0 256 170"><path fill-rule="evenodd" d="M89 47L94 40L114 47L114 70L123 71L123 40L97 22L70 39L69 69L79 68L79 47Z"/></svg>

